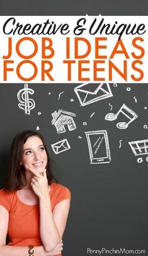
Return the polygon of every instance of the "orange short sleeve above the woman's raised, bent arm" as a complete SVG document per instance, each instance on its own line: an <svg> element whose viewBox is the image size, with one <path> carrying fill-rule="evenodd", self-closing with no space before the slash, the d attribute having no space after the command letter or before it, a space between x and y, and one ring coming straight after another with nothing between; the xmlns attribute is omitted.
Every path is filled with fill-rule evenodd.
<svg viewBox="0 0 148 256"><path fill-rule="evenodd" d="M65 186L59 185L59 188L57 188L55 204L58 204L59 202L65 199L71 199L71 192Z"/></svg>

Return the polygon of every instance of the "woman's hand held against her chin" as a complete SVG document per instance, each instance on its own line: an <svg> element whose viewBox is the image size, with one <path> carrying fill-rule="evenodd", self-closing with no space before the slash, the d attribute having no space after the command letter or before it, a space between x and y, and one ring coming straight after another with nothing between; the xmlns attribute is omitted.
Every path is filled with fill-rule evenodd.
<svg viewBox="0 0 148 256"><path fill-rule="evenodd" d="M38 171L32 167L29 167L28 171L33 173L33 178L31 178L31 188L33 192L35 192L39 198L48 196L50 188L48 188L46 169L43 171L43 174L38 173Z"/></svg>

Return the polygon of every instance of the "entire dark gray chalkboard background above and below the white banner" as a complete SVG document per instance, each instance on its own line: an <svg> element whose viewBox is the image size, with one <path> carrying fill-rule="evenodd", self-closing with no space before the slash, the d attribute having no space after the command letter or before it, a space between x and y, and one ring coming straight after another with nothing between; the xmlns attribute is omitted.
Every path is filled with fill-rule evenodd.
<svg viewBox="0 0 148 256"><path fill-rule="evenodd" d="M147 15L145 0L128 1L0 1L1 15ZM59 72L60 75L60 72ZM36 107L30 116L18 108L17 93L22 84L0 85L0 164L1 186L12 138L21 130L40 127L52 159L52 169L60 183L72 193L71 211L64 235L64 256L87 255L87 248L145 249L147 245L147 162L137 163L128 142L147 139L147 84L120 84L113 97L80 107L74 93L76 85L30 84ZM127 91L130 87L130 92ZM59 93L64 91L58 101ZM49 95L48 92L51 92ZM135 102L134 96L137 99ZM74 99L74 102L71 102ZM110 106L113 106L110 111ZM118 130L116 121L105 121L105 114L117 113L127 104L139 118L127 130ZM76 113L77 130L57 135L51 113L59 108ZM148 106L147 106L148 108ZM38 111L42 115L38 116ZM94 113L93 118L90 118ZM84 126L83 122L88 125ZM89 164L84 131L107 130L111 150L110 164ZM79 139L78 137L82 138ZM71 150L55 155L51 143L67 138ZM119 140L122 147L119 149ZM92 255L92 254L91 254ZM113 255L113 254L112 254Z"/></svg>

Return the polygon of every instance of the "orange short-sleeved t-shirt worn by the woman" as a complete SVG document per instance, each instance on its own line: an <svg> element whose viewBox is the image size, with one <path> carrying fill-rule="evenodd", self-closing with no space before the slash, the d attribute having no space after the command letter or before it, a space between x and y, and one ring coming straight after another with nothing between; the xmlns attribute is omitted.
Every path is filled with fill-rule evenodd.
<svg viewBox="0 0 148 256"><path fill-rule="evenodd" d="M60 201L71 198L71 192L59 183L52 183L50 188L52 210ZM0 190L0 205L9 212L8 245L28 246L42 245L40 240L39 205L28 205L21 202L18 193Z"/></svg>

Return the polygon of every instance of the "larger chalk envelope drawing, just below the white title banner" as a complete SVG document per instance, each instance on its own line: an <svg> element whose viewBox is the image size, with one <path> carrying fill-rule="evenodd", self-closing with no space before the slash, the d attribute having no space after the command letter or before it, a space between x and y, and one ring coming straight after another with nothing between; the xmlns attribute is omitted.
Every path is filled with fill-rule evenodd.
<svg viewBox="0 0 148 256"><path fill-rule="evenodd" d="M81 106L113 96L108 83L83 83L75 87L74 91Z"/></svg>

